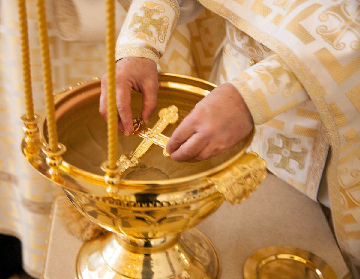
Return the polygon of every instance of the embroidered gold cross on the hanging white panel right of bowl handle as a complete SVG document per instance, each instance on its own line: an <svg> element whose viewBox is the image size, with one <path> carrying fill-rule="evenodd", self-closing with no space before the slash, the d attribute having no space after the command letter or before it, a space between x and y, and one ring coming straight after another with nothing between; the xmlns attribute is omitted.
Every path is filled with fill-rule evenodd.
<svg viewBox="0 0 360 279"><path fill-rule="evenodd" d="M282 134L276 135L282 140L282 147L279 147L274 144L274 139L270 138L267 140L269 143L269 149L267 149L266 155L269 158L273 158L273 154L281 155L281 160L279 163L274 163L275 167L286 169L289 173L295 174L295 170L290 167L290 159L295 160L299 164L299 168L303 169L305 167L305 157L307 155L307 149L302 148L300 152L293 151L292 145L294 143L299 144L300 139L298 138L287 138Z"/></svg>

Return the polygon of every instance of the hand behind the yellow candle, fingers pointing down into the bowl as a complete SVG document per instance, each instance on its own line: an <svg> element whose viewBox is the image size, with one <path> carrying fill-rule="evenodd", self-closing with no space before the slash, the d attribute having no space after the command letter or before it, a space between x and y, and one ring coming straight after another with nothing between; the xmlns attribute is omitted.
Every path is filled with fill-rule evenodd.
<svg viewBox="0 0 360 279"><path fill-rule="evenodd" d="M143 93L141 118L147 123L156 108L158 91L156 63L142 57L126 57L116 62L116 106L118 129L131 135L134 127L131 112L131 89ZM107 74L101 79L100 114L107 120Z"/></svg>

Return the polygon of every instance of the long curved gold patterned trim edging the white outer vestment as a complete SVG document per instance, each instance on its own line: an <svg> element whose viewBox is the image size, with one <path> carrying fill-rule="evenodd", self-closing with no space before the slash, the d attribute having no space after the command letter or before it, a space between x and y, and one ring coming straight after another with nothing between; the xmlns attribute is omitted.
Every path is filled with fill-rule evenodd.
<svg viewBox="0 0 360 279"><path fill-rule="evenodd" d="M279 54L283 60L288 64L289 68L301 81L303 87L314 102L318 109L321 119L323 119L325 127L330 136L330 145L332 148L332 156L329 165L328 172L328 190L330 201L332 204L332 217L334 223L334 229L336 232L336 238L341 250L344 253L345 260L351 262L350 246L347 242L347 236L345 233L345 225L343 221L343 205L341 203L341 192L338 185L338 162L340 152L340 136L337 129L335 119L331 113L331 110L325 100L326 92L320 85L315 76L312 75L311 71L303 64L301 59L289 48L287 45L282 43L279 39L271 37L261 29L255 27L251 23L247 22L233 11L225 8L224 5L213 0L198 0L205 8L221 15L228 19L241 31L249 34L249 36L256 39L266 47L270 48L277 54ZM231 2L231 0L230 0ZM235 3L234 3L235 4ZM235 4L236 5L236 4Z"/></svg>

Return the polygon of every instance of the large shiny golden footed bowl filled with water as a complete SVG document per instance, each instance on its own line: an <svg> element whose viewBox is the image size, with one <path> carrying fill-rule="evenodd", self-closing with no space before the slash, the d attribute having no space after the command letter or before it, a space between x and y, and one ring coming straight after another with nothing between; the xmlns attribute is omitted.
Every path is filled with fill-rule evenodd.
<svg viewBox="0 0 360 279"><path fill-rule="evenodd" d="M179 121L162 132L170 136L214 87L196 78L159 74L157 111L148 126L158 120L159 109L175 105ZM29 140L22 143L24 155L39 172L64 187L82 214L113 232L85 243L77 259L78 278L219 278L215 248L192 228L222 201L241 203L264 180L264 160L245 152L253 132L228 152L199 163L174 162L152 145L109 191L100 168L107 157L107 126L98 112L99 96L97 79L56 94L59 142L66 147L62 160L60 153L50 154L58 173L46 164L49 152L42 151L48 140L46 121L35 149L29 152ZM133 91L134 116L141 107L142 95ZM129 155L142 140L135 134L118 136L119 156Z"/></svg>

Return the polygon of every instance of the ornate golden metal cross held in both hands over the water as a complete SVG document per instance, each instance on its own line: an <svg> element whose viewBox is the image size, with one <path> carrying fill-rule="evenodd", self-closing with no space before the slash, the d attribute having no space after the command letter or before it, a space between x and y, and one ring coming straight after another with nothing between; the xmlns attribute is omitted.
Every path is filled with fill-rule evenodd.
<svg viewBox="0 0 360 279"><path fill-rule="evenodd" d="M166 152L166 144L169 138L161 132L170 124L174 124L179 119L179 110L176 106L170 106L168 108L162 108L159 111L159 120L156 122L152 129L145 127L143 125L143 120L140 117L134 119L134 134L143 138L141 143L136 147L136 149L131 152L130 156L122 154L120 157L120 162L122 162L123 167L120 171L120 175L130 167L134 167L139 164L138 159L148 151L148 149L156 144L159 147L163 148L163 154L165 156L170 156Z"/></svg>

